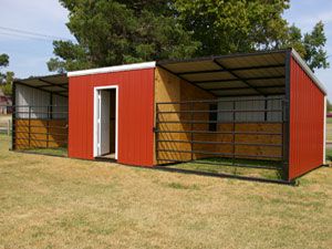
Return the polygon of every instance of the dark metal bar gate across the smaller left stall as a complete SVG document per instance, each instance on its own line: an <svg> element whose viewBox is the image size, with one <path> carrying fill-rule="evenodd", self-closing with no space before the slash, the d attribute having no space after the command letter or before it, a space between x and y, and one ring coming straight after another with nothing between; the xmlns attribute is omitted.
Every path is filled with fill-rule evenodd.
<svg viewBox="0 0 332 249"><path fill-rule="evenodd" d="M68 106L12 106L12 149L66 155Z"/></svg>

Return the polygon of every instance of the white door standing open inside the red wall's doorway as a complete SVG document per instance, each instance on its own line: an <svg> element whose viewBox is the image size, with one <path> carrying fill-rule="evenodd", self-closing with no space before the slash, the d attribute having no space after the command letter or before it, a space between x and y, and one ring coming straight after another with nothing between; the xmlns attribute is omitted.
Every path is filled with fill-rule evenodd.
<svg viewBox="0 0 332 249"><path fill-rule="evenodd" d="M97 156L110 153L110 92L97 91Z"/></svg>

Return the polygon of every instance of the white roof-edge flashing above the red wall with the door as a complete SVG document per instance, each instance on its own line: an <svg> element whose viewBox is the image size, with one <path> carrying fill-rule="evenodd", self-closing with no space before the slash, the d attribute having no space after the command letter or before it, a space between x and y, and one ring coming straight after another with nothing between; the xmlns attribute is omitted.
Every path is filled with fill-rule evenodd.
<svg viewBox="0 0 332 249"><path fill-rule="evenodd" d="M107 68L72 71L72 72L68 72L66 75L69 77L72 77L72 76L83 76L83 75L98 74L98 73L115 73L122 71L144 70L144 69L154 69L154 68L156 68L156 62L152 61L152 62L126 64L126 65L114 65Z"/></svg>

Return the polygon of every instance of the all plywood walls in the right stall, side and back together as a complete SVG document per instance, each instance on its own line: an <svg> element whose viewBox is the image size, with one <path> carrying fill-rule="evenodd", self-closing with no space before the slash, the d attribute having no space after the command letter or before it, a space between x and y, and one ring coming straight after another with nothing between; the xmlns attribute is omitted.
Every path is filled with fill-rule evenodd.
<svg viewBox="0 0 332 249"><path fill-rule="evenodd" d="M198 101L198 100L216 100L212 94L194 86L193 84L180 80L174 74L157 68L155 70L155 103L160 102L185 102L185 101ZM196 110L196 111L208 111L210 103L195 103L193 104L162 104L158 105L156 112L178 112L178 113L165 113L158 114L157 120L170 123L155 124L160 132L166 131L209 131L209 113L184 113L183 111ZM197 123L190 124L188 121L195 121ZM157 121L156 121L157 122ZM172 123L178 122L178 123ZM222 122L217 124L217 132L251 132L251 133L282 133L281 122L271 123L227 123ZM158 133L156 138L159 141L181 141L179 142L158 142L155 144L155 164L167 164L167 159L186 162L190 159L199 159L204 157L216 157L214 153L222 153L225 157L227 154L243 154L258 156L258 159L280 159L282 148L280 146L252 146L246 145L246 143L252 144L270 144L281 145L281 135L248 135L248 134L218 134L218 133ZM225 142L229 143L235 139L236 143L242 143L242 145L232 146L231 144L190 144L190 141L195 142ZM188 143L183 143L188 142ZM157 152L158 149L165 149L166 152ZM180 152L208 152L209 154L200 153L180 153ZM193 156L193 157L191 157ZM259 157L261 156L261 157ZM267 157L272 156L272 157ZM159 160L157 160L158 158ZM237 158L252 158L246 156L237 156Z"/></svg>

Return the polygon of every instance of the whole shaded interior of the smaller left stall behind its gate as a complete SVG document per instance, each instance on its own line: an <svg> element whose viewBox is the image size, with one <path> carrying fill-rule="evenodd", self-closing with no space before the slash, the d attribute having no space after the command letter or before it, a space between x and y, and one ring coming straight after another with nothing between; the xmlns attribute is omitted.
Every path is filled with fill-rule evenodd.
<svg viewBox="0 0 332 249"><path fill-rule="evenodd" d="M12 148L66 155L68 96L65 74L15 80Z"/></svg>

